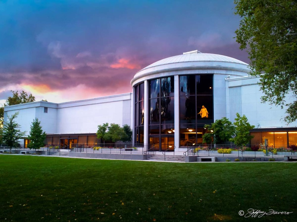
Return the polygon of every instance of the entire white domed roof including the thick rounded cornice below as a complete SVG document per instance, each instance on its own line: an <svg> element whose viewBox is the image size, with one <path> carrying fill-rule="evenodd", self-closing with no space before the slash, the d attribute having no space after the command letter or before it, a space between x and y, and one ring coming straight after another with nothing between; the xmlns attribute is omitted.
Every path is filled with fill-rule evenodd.
<svg viewBox="0 0 297 222"><path fill-rule="evenodd" d="M192 73L221 73L233 72L233 75L245 76L249 73L249 64L232 57L201 53L198 50L185 52L161 59L138 71L131 80L132 86L150 78L160 76L184 75ZM216 70L216 71L214 71ZM187 72L187 73L186 73Z"/></svg>

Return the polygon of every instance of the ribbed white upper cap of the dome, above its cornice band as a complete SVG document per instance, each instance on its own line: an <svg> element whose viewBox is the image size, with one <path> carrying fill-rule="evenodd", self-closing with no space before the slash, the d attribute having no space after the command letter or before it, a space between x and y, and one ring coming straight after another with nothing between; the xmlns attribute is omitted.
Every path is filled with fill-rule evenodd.
<svg viewBox="0 0 297 222"><path fill-rule="evenodd" d="M234 59L232 57L218 55L218 54L211 54L211 53L201 53L198 50L191 51L191 52L184 52L182 55L171 56L165 59L161 59L157 62L148 65L147 67L143 68L142 70L159 66L159 65L166 65L171 63L179 63L179 62L233 62L239 63L244 65L249 65L245 62L242 62L238 59ZM142 71L140 70L140 71ZM139 72L140 72L139 71Z"/></svg>

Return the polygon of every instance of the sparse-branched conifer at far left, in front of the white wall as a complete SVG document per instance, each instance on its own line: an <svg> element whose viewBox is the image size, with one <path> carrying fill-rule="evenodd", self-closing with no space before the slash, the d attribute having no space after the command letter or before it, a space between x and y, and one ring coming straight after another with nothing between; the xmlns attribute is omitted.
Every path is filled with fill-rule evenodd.
<svg viewBox="0 0 297 222"><path fill-rule="evenodd" d="M16 112L12 116L7 116L8 121L5 122L3 126L2 139L9 147L10 152L12 147L18 146L18 140L22 139L26 134L26 132L21 132L19 130L20 125L15 122L15 118L18 117L18 114L19 112Z"/></svg>

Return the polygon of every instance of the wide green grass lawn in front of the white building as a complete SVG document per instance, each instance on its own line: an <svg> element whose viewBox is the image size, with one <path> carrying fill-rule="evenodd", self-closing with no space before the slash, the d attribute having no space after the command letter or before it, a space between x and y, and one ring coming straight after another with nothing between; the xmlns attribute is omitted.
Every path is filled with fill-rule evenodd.
<svg viewBox="0 0 297 222"><path fill-rule="evenodd" d="M1 154L0 221L296 221L296 167Z"/></svg>

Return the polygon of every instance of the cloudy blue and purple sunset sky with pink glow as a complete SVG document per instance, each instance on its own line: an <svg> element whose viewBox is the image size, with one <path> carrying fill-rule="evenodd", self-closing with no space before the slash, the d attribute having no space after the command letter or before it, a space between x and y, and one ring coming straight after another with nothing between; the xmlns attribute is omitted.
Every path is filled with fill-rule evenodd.
<svg viewBox="0 0 297 222"><path fill-rule="evenodd" d="M0 105L132 92L142 68L199 50L249 63L233 0L0 0Z"/></svg>

